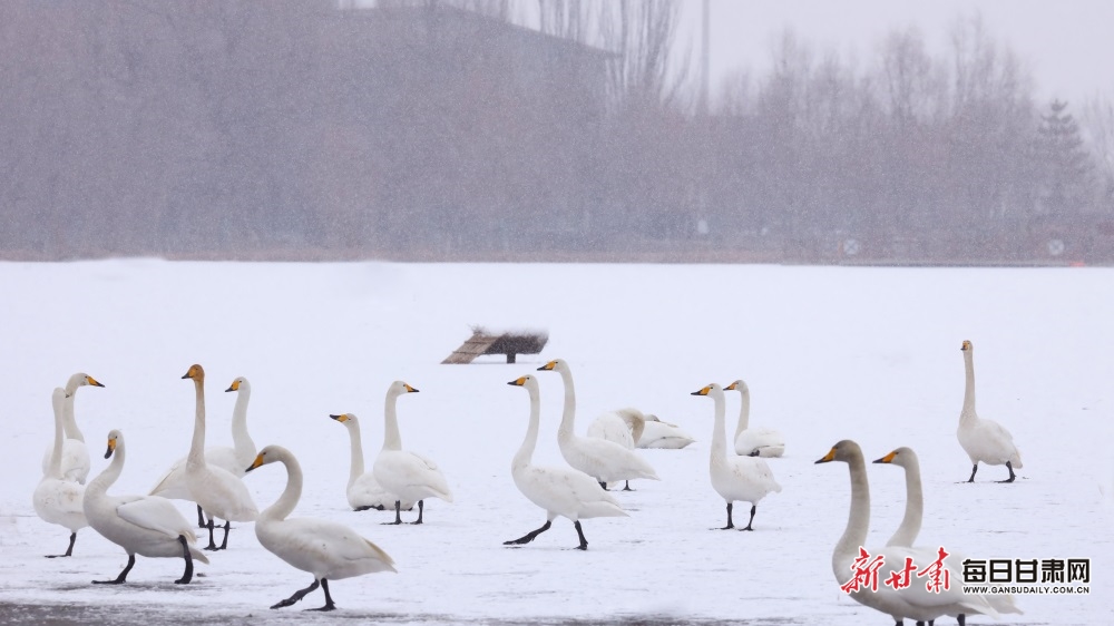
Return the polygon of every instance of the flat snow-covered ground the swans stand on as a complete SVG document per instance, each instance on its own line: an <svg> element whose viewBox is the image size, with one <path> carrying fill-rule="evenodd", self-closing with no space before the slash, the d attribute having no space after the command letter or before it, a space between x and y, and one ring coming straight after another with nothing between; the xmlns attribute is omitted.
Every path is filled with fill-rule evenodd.
<svg viewBox="0 0 1114 626"><path fill-rule="evenodd" d="M831 550L849 506L841 463L814 464L856 439L869 459L899 446L920 456L926 516L919 544L974 557L1092 559L1089 596L1018 596L1007 624L1098 624L1112 618L1114 547L1114 270L864 268L734 265L247 264L155 260L0 264L0 623L120 623L358 618L387 623L585 622L888 624L842 597ZM499 356L441 365L470 325L541 327L549 344L517 364ZM956 440L960 343L975 343L978 409L1005 424L1025 467L976 485ZM526 431L527 394L541 382L536 460L556 446L561 384L536 372L564 358L576 380L577 431L606 409L634 405L698 438L684 450L645 450L661 482L616 496L629 518L570 522L520 548L502 541L544 521L515 488L510 459ZM124 551L89 528L75 555L68 531L40 520L31 493L52 437L50 392L85 371L77 420L106 467L106 436L121 429L128 457L111 492L146 492L184 456L193 428L192 363L207 373L211 444L229 444L237 375L253 385L248 428L262 447L301 460L295 515L351 525L398 561L398 574L332 583L281 612L267 607L311 583L237 524L227 551L173 584L180 559L138 557L128 584L105 588ZM710 382L745 379L752 426L780 429L783 487L759 507L754 532L711 530L724 503L709 481ZM368 468L382 443L383 398L394 380L403 444L437 460L456 502L430 500L423 526L383 526L392 513L348 507L349 443L330 413L363 424ZM727 393L729 428L739 398ZM870 544L882 544L905 503L901 470L868 466ZM90 476L91 478L91 476ZM281 466L247 477L260 507L285 483ZM178 502L187 519L193 507ZM736 520L745 524L745 505ZM737 515L743 513L743 515ZM408 513L405 519L412 519ZM954 623L950 618L941 622ZM981 616L969 624L989 623Z"/></svg>

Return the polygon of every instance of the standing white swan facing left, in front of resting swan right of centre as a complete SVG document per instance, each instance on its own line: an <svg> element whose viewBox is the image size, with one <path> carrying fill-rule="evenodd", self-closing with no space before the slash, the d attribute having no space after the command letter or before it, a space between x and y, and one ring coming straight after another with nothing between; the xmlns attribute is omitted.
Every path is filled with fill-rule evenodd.
<svg viewBox="0 0 1114 626"><path fill-rule="evenodd" d="M731 519L732 503L735 500L751 503L751 519L741 530L754 530L754 513L758 503L772 492L780 492L781 486L773 478L770 466L758 456L735 457L727 454L727 436L724 430L723 388L712 383L693 395L709 395L715 403L715 419L712 422L712 451L709 456L709 475L712 477L712 488L727 501L727 526L723 530L735 527Z"/></svg>

